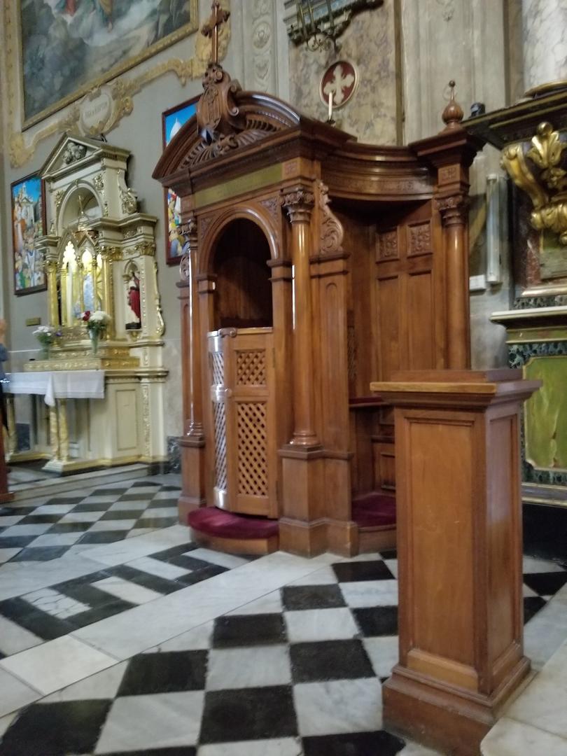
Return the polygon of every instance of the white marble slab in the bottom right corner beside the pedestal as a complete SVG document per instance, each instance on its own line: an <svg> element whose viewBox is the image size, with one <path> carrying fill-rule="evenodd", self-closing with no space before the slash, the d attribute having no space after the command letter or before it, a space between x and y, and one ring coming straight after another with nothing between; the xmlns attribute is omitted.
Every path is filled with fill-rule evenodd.
<svg viewBox="0 0 567 756"><path fill-rule="evenodd" d="M482 756L565 756L567 740L502 717L481 743Z"/></svg>

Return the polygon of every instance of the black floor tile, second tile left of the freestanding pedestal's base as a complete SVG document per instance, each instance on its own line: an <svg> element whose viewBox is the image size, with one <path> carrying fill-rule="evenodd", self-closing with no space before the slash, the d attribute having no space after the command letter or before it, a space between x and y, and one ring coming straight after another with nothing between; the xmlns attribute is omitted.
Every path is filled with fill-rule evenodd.
<svg viewBox="0 0 567 756"><path fill-rule="evenodd" d="M291 686L215 690L205 694L202 744L296 735Z"/></svg>

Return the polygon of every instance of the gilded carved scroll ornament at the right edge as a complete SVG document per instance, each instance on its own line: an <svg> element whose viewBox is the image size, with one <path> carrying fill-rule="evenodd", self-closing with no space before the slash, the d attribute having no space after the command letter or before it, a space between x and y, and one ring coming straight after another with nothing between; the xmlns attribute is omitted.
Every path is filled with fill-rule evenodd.
<svg viewBox="0 0 567 756"><path fill-rule="evenodd" d="M531 138L531 147L510 144L503 150L502 166L514 184L525 191L534 206L531 225L538 231L553 231L567 245L567 171L562 168L567 142L560 141L559 132L544 121ZM539 169L534 172L528 160Z"/></svg>

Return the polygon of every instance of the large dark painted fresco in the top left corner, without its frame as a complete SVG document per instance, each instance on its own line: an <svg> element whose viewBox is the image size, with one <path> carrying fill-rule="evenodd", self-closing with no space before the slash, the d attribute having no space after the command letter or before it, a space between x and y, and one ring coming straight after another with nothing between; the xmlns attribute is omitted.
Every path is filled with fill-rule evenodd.
<svg viewBox="0 0 567 756"><path fill-rule="evenodd" d="M25 124L197 28L196 0L20 0Z"/></svg>

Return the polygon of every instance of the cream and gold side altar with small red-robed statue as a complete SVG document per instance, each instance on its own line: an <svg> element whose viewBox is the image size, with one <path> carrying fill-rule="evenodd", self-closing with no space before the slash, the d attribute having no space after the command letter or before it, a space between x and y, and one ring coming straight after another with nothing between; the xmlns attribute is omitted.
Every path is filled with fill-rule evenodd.
<svg viewBox="0 0 567 756"><path fill-rule="evenodd" d="M56 397L48 411L38 411L36 402L38 442L24 454L49 457L46 467L57 472L166 459L157 218L138 209L126 182L129 155L102 141L65 135L41 172L49 232L39 248L48 323L57 336L48 354L24 370L79 373L79 383L81 371L104 371L104 398ZM110 316L100 340L89 338L85 311ZM14 420L10 407L8 415ZM23 457L13 445L8 451L14 461Z"/></svg>

